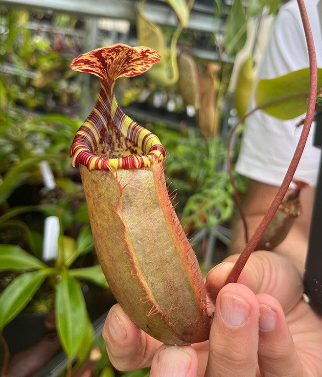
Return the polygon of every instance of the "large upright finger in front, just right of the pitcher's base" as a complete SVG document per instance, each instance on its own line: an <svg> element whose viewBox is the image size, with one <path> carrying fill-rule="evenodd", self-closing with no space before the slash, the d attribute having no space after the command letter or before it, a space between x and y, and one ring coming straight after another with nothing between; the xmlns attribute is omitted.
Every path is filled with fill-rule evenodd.
<svg viewBox="0 0 322 377"><path fill-rule="evenodd" d="M256 375L258 317L258 300L249 288L231 283L220 290L205 377Z"/></svg>

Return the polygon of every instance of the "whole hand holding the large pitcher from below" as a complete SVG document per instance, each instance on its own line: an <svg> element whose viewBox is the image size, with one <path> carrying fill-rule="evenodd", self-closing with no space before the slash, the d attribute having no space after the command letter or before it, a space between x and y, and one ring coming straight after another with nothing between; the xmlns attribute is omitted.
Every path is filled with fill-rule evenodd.
<svg viewBox="0 0 322 377"><path fill-rule="evenodd" d="M207 277L216 301L207 342L163 345L113 306L103 330L113 365L120 370L151 365L150 377L322 375L322 318L302 301L296 268L285 257L256 252L238 284L222 288L236 259L227 258Z"/></svg>

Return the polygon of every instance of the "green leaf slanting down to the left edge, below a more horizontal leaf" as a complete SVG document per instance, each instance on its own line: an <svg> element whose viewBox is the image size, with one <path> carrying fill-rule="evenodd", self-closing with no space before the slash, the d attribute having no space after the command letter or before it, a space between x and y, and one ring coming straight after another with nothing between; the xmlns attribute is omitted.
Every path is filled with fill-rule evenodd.
<svg viewBox="0 0 322 377"><path fill-rule="evenodd" d="M31 300L51 268L25 273L8 285L0 296L0 332Z"/></svg>

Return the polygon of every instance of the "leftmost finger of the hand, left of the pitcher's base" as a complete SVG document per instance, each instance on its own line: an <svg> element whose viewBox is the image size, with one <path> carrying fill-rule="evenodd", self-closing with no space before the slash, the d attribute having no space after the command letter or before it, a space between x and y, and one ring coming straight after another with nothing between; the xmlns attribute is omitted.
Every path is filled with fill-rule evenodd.
<svg viewBox="0 0 322 377"><path fill-rule="evenodd" d="M162 344L137 327L119 304L108 312L103 338L110 361L119 370L150 366L155 351Z"/></svg>

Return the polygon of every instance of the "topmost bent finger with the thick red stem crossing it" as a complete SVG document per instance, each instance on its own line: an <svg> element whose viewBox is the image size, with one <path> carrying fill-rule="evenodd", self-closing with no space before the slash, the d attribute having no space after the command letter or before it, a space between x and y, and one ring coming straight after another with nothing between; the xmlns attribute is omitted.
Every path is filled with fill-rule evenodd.
<svg viewBox="0 0 322 377"><path fill-rule="evenodd" d="M212 300L225 284L237 258L238 255L229 256L209 272L206 288ZM272 252L252 253L237 282L246 285L255 294L267 293L275 297L285 312L303 295L302 279L296 267L286 257Z"/></svg>

